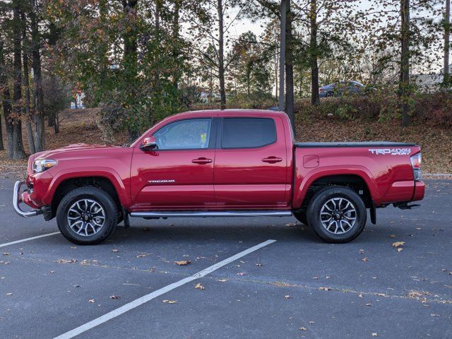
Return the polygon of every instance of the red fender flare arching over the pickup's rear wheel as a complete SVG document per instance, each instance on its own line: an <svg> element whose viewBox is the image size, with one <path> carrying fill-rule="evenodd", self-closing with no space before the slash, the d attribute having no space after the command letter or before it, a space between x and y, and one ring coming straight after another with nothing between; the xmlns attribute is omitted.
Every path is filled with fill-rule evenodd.
<svg viewBox="0 0 452 339"><path fill-rule="evenodd" d="M309 171L304 177L296 177L296 186L294 191L293 208L297 209L302 206L304 197L309 187L317 180L323 177L331 177L334 175L355 175L364 180L369 189L372 200L376 206L380 205L380 197L378 195L378 186L369 169L364 166L352 165L347 168L340 166L316 167Z"/></svg>

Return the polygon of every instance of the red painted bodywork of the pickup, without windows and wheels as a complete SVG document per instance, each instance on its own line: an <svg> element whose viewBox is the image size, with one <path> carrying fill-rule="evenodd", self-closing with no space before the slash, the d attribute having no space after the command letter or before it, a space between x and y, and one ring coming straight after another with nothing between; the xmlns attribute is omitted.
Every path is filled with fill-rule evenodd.
<svg viewBox="0 0 452 339"><path fill-rule="evenodd" d="M216 145L198 150L153 150L139 148L143 138L162 126L194 118L265 117L275 121L275 143L260 148L222 149ZM220 126L212 124L212 126ZM218 127L217 132L220 133ZM215 139L214 139L215 140ZM384 148L374 146L373 148ZM71 145L30 157L23 201L32 208L48 206L58 186L66 179L103 177L117 191L126 210L235 210L297 209L309 186L317 179L335 175L362 178L377 207L388 203L417 201L424 197L424 184L414 180L409 154L371 151L367 144L352 147L328 144L309 147L293 143L290 121L281 112L227 110L186 112L168 117L130 147ZM278 162L268 158L278 158ZM34 173L37 158L57 160L57 165ZM193 160L208 159L199 163ZM266 161L263 161L266 160Z"/></svg>

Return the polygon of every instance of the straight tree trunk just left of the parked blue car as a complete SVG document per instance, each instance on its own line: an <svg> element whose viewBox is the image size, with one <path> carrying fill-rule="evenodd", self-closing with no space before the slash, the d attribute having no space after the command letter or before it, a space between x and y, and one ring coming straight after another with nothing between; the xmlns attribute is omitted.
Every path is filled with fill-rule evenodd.
<svg viewBox="0 0 452 339"><path fill-rule="evenodd" d="M317 59L317 0L311 0L309 10L310 40L309 63L311 64L311 104L319 105L319 64Z"/></svg>

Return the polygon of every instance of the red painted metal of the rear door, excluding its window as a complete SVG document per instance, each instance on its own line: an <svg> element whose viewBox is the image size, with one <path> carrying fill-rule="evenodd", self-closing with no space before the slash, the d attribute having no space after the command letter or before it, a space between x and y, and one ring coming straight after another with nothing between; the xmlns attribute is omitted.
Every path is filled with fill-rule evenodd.
<svg viewBox="0 0 452 339"><path fill-rule="evenodd" d="M219 117L243 117L240 112L222 112ZM262 117L246 114L246 117ZM215 197L218 206L230 209L281 208L288 206L287 187L292 182L287 164L285 126L281 114L270 115L275 121L276 141L261 148L217 148L215 153ZM264 159L276 157L280 162L268 163ZM292 172L292 171L290 171Z"/></svg>

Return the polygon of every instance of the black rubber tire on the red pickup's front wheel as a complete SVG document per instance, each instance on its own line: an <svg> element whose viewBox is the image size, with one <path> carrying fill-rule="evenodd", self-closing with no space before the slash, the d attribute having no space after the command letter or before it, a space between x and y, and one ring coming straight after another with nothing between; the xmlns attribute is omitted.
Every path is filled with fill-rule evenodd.
<svg viewBox="0 0 452 339"><path fill-rule="evenodd" d="M102 213L104 216L102 217L102 215L100 215L99 218L104 218L104 222L102 226L99 227L99 230L97 230L97 232L94 232L93 230L95 230L95 228L91 227L93 234L81 235L77 234L76 231L73 230L73 228L71 228L71 226L69 225L69 215L80 215L80 213L73 214L73 211L69 212L71 207L78 201L93 201L94 204L98 204L98 206L102 208ZM83 210L83 202L81 202L80 205ZM91 207L93 207L93 204L91 205ZM88 207L85 208L85 211L86 210L88 210ZM109 237L110 234L112 234L112 232L116 228L116 225L118 224L119 214L120 213L118 211L117 204L114 202L113 198L109 194L107 194L107 192L103 191L102 189L98 189L97 187L83 186L70 191L61 200L57 208L57 224L61 234L63 234L63 236L70 242L78 245L94 245L104 241L105 239L107 239L107 237ZM99 221L102 219L97 220ZM82 223L82 225L85 224ZM82 227L83 226L81 226L81 228ZM88 226L85 226L85 229L88 229Z"/></svg>

